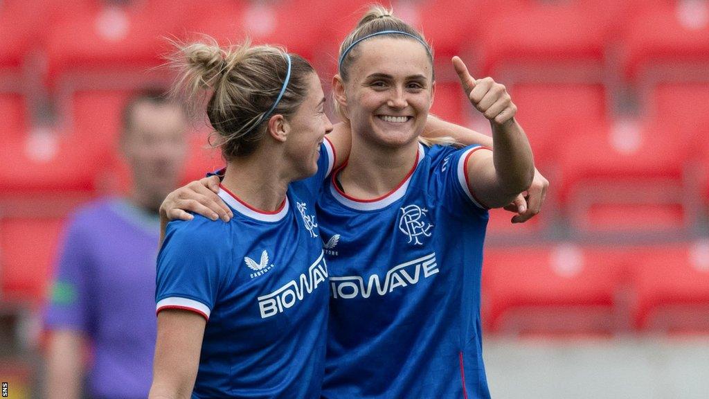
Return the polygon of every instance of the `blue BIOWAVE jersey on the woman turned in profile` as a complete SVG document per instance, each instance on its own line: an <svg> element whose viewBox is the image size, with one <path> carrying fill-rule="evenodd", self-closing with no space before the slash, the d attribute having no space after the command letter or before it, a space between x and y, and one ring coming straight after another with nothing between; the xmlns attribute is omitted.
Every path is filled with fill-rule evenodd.
<svg viewBox="0 0 709 399"><path fill-rule="evenodd" d="M329 290L315 202L332 164L325 143L318 173L292 182L277 212L222 187L230 222L195 215L168 224L157 312L207 319L192 398L320 397Z"/></svg>

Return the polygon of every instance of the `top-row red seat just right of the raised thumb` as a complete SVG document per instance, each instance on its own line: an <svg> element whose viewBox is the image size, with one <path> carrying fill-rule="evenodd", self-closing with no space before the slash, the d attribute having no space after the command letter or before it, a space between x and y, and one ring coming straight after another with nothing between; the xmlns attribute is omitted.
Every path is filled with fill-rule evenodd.
<svg viewBox="0 0 709 399"><path fill-rule="evenodd" d="M576 2L530 4L480 23L484 75L507 81L601 78L609 29Z"/></svg>

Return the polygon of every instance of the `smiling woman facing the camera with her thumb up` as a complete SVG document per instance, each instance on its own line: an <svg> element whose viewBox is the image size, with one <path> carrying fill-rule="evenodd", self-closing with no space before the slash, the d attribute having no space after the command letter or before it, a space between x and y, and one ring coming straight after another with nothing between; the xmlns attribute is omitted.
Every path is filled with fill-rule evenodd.
<svg viewBox="0 0 709 399"><path fill-rule="evenodd" d="M487 209L511 202L534 172L516 108L501 84L474 80L454 58L491 121L494 151L423 146L435 93L423 36L374 7L340 54L333 91L352 149L318 200L324 239L337 236L326 253L323 398L489 398L479 313Z"/></svg>

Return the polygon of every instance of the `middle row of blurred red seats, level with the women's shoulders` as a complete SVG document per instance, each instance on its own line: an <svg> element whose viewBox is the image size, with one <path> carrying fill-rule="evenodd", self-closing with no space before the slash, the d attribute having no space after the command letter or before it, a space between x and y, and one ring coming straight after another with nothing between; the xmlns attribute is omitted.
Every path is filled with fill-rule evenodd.
<svg viewBox="0 0 709 399"><path fill-rule="evenodd" d="M458 86L438 84L432 111L487 131L479 116L472 118L476 112ZM510 92L537 166L552 180L550 198L569 209L569 221L579 228L601 224L608 229L618 223L683 229L695 219L694 209L709 203L708 84L657 85L647 96L641 123L613 121L601 84L515 84ZM74 92L66 103L71 123L65 131L30 134L23 127L25 108L18 105L22 97L0 97L6 99L0 106L8 110L2 122L6 130L0 130L7 132L0 134L0 157L7 161L0 168L4 196L125 187L111 176L116 170L120 179L125 175L115 143L127 94ZM206 131L191 136L186 179L221 165L218 153L206 151L205 143Z"/></svg>

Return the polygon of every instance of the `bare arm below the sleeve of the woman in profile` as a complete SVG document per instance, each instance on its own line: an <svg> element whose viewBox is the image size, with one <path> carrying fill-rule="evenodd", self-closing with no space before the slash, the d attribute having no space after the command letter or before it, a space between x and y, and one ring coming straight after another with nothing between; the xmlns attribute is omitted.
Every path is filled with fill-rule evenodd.
<svg viewBox="0 0 709 399"><path fill-rule="evenodd" d="M186 310L157 315L150 399L191 398L205 326L204 317Z"/></svg>

